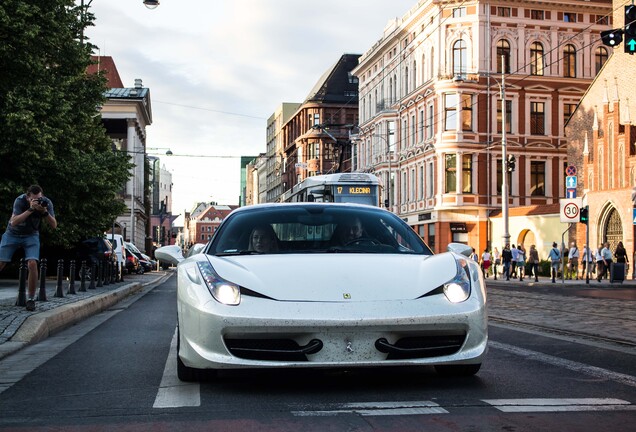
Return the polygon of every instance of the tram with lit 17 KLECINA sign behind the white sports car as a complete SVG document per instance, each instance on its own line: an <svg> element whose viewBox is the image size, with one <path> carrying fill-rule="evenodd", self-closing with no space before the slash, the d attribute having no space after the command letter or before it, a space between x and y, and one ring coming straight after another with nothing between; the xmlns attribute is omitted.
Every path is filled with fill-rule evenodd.
<svg viewBox="0 0 636 432"><path fill-rule="evenodd" d="M284 202L352 202L379 205L378 178L368 173L307 177L283 194Z"/></svg>

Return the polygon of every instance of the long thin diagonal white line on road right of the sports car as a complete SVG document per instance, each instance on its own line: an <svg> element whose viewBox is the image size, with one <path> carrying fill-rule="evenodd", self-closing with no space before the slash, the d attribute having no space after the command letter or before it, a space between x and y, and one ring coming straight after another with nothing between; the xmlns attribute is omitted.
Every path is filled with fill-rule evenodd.
<svg viewBox="0 0 636 432"><path fill-rule="evenodd" d="M586 365L585 363L579 363L572 360L566 360L560 357L551 356L549 354L540 353L537 351L527 350L525 348L519 348L514 345L508 345L500 342L489 341L488 346L494 349L509 352L525 357L529 360L535 360L541 363L551 364L553 366L570 369L576 372L581 372L586 375L590 375L596 378L602 378L610 381L617 382L619 384L625 384L630 387L636 387L636 377L632 375L622 374L619 372L612 372L607 369L603 369L596 366Z"/></svg>

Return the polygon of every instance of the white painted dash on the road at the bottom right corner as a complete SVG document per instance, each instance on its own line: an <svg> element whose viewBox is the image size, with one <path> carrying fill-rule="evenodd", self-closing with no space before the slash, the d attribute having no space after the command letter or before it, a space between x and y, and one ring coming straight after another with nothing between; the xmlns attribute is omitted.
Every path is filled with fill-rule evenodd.
<svg viewBox="0 0 636 432"><path fill-rule="evenodd" d="M612 398L482 400L506 413L636 410L630 402Z"/></svg>

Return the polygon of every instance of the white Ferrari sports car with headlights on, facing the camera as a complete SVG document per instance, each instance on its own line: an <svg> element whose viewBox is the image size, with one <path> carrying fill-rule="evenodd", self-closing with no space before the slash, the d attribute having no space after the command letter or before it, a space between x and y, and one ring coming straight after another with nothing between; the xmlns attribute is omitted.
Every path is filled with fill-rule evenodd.
<svg viewBox="0 0 636 432"><path fill-rule="evenodd" d="M434 366L477 373L485 284L472 249L434 254L395 214L335 203L241 207L202 253L173 246L177 375L220 369ZM203 374L202 374L203 372Z"/></svg>

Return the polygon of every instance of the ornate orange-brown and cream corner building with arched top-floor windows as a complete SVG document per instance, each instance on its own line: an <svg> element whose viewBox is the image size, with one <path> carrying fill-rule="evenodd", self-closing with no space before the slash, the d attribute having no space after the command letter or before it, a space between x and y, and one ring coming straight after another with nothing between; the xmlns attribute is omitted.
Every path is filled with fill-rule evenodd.
<svg viewBox="0 0 636 432"><path fill-rule="evenodd" d="M353 70L353 170L376 173L390 210L436 251L501 247L506 196L528 216L510 242L546 250L561 230L565 124L607 61L611 24L611 0L419 1Z"/></svg>

